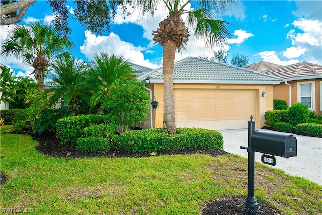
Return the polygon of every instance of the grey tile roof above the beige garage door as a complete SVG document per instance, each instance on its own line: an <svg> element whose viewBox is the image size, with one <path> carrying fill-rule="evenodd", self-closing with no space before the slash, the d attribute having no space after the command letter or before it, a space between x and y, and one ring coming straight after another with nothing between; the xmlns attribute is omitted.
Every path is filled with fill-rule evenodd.
<svg viewBox="0 0 322 215"><path fill-rule="evenodd" d="M139 80L163 82L162 67L138 77ZM175 62L174 83L279 84L282 79L198 57Z"/></svg>

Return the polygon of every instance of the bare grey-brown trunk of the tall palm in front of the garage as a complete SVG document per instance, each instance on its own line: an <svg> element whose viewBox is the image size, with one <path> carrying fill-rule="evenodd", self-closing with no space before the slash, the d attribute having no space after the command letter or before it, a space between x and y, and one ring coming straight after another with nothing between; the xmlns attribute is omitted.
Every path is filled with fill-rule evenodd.
<svg viewBox="0 0 322 215"><path fill-rule="evenodd" d="M176 44L173 41L163 43L163 130L176 132L175 97L173 90L173 69L175 65Z"/></svg>

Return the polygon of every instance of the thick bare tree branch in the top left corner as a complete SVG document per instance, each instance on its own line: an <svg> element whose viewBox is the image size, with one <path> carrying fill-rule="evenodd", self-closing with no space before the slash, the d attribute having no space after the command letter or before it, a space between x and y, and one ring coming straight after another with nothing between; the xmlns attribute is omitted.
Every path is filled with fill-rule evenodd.
<svg viewBox="0 0 322 215"><path fill-rule="evenodd" d="M23 16L26 14L29 6L34 2L36 2L36 0L20 0L18 2L13 2L0 6L0 17L20 10L15 17L0 18L0 25L10 25L13 23L20 22Z"/></svg>

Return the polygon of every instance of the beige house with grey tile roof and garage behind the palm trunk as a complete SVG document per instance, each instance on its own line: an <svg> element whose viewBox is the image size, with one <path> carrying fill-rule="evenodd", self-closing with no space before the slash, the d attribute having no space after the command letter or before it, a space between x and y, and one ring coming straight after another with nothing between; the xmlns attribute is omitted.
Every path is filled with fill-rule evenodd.
<svg viewBox="0 0 322 215"><path fill-rule="evenodd" d="M142 73L138 79L152 92L159 106L142 123L143 128L162 127L162 68ZM176 126L207 129L247 128L250 116L256 128L264 126L264 114L273 109L273 85L281 78L256 71L187 57L175 63L173 83Z"/></svg>

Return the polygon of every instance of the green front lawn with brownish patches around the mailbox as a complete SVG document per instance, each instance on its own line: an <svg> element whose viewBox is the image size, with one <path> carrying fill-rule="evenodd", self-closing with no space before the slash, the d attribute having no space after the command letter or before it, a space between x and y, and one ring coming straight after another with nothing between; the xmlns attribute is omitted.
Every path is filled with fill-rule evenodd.
<svg viewBox="0 0 322 215"><path fill-rule="evenodd" d="M9 128L0 132L0 170L9 176L0 187L0 208L32 208L34 214L199 214L210 200L247 195L247 159L237 155L56 158L39 153L28 135L4 133ZM322 214L322 186L260 163L255 168L258 201L283 214Z"/></svg>

